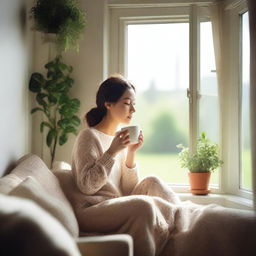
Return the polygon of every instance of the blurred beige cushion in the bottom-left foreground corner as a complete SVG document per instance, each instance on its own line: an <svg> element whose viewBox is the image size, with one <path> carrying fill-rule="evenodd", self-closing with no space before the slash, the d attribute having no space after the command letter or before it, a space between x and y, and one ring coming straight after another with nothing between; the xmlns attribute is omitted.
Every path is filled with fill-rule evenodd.
<svg viewBox="0 0 256 256"><path fill-rule="evenodd" d="M67 230L31 200L0 194L1 255L79 256Z"/></svg>

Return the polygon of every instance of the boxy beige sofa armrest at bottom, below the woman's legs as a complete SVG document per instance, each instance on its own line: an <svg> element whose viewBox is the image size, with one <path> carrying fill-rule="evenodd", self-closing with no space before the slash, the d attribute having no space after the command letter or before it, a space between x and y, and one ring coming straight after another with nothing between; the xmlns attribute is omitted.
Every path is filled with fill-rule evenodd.
<svg viewBox="0 0 256 256"><path fill-rule="evenodd" d="M83 256L133 256L133 240L127 234L79 237L76 243Z"/></svg>

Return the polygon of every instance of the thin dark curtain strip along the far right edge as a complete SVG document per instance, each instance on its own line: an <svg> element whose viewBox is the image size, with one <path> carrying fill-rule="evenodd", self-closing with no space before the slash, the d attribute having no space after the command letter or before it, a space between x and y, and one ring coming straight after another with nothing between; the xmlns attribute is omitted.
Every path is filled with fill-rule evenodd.
<svg viewBox="0 0 256 256"><path fill-rule="evenodd" d="M256 211L256 1L248 0L250 28L250 115L254 211Z"/></svg>

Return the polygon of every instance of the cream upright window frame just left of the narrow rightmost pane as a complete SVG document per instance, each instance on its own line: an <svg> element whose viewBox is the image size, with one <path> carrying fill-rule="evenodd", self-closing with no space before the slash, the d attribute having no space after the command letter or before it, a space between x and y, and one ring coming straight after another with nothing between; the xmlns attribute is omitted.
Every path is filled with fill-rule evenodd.
<svg viewBox="0 0 256 256"><path fill-rule="evenodd" d="M229 98L229 119L234 128L232 140L229 140L227 150L230 152L229 158L226 159L227 165L223 180L225 193L237 195L252 200L253 193L251 191L240 188L240 172L241 172L241 93L242 93L242 56L241 56L241 14L248 11L245 0L233 1L225 6L225 15L229 18L229 38L226 40L226 47L229 47L228 63L230 64L227 81L229 86L224 90L233 90L233 96ZM228 95L228 91L225 93ZM230 128L230 126L229 126ZM227 133L226 133L227 134ZM232 145L231 145L232 144ZM233 148L232 148L233 147Z"/></svg>

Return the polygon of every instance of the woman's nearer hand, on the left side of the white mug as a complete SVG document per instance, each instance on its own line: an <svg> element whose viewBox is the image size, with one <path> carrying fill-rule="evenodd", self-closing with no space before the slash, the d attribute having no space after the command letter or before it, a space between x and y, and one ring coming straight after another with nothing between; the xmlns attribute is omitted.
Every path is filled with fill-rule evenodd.
<svg viewBox="0 0 256 256"><path fill-rule="evenodd" d="M126 148L129 145L129 143L129 131L119 131L116 133L116 136L114 137L107 152L114 157L118 152Z"/></svg>

